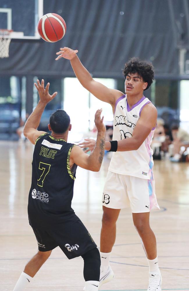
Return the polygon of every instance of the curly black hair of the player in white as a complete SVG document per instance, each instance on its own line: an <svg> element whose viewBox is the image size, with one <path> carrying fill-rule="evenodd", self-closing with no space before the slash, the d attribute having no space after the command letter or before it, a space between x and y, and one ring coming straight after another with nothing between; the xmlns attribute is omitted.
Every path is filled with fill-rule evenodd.
<svg viewBox="0 0 189 291"><path fill-rule="evenodd" d="M139 58L130 58L128 63L125 64L125 68L123 70L125 79L129 73L138 73L139 76L148 83L148 86L145 90L149 88L154 79L154 67L152 63L148 63L147 61L140 61Z"/></svg>

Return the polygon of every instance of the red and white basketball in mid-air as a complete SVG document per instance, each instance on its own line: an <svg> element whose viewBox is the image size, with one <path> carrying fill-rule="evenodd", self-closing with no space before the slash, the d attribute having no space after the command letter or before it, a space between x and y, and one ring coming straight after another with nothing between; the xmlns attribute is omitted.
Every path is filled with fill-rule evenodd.
<svg viewBox="0 0 189 291"><path fill-rule="evenodd" d="M65 35L66 23L60 15L47 13L38 22L38 33L45 41L56 42Z"/></svg>

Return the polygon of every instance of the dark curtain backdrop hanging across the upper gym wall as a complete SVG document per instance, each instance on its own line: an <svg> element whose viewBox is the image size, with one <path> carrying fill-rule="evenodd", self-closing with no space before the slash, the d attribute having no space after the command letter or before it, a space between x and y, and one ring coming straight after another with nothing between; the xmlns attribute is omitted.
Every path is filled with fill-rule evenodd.
<svg viewBox="0 0 189 291"><path fill-rule="evenodd" d="M93 77L122 77L133 56L152 61L156 77L176 77L179 47L189 43L188 6L188 0L44 0L44 14L64 18L64 38L12 40L9 58L0 59L0 74L74 76L68 60L55 61L66 46L79 50Z"/></svg>

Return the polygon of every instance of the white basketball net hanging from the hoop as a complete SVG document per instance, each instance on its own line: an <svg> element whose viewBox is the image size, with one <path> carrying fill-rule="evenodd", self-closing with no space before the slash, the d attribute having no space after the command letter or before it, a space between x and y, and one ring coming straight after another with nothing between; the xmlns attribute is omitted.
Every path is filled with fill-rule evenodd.
<svg viewBox="0 0 189 291"><path fill-rule="evenodd" d="M9 57L10 33L12 30L0 29L0 58Z"/></svg>

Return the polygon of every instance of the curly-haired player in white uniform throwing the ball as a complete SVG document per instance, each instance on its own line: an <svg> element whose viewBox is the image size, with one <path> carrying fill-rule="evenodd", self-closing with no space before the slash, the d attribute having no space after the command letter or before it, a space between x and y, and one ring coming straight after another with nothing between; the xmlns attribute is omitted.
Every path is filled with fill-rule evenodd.
<svg viewBox="0 0 189 291"><path fill-rule="evenodd" d="M79 82L99 100L111 104L114 113L113 141L105 142L105 149L113 151L104 186L101 228L100 285L109 282L114 274L109 265L115 243L116 221L122 208L131 207L133 223L137 229L149 264L148 291L161 290L156 238L149 225L149 212L159 209L153 176L153 151L150 148L156 127L157 110L144 97L154 79L151 63L132 58L125 64L125 94L92 79L83 67L77 50L64 47L57 52L59 58L69 59ZM93 150L95 141L86 139L81 144Z"/></svg>

